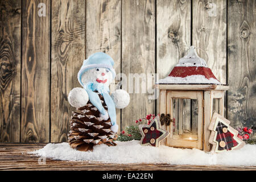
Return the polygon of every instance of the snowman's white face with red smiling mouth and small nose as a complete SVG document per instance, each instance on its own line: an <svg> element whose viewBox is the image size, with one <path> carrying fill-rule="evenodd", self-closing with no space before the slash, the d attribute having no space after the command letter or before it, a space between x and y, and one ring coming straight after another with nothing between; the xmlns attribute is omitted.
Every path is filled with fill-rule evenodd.
<svg viewBox="0 0 256 182"><path fill-rule="evenodd" d="M98 82L109 86L113 77L108 68L92 68L82 75L81 81L84 85L88 82Z"/></svg>

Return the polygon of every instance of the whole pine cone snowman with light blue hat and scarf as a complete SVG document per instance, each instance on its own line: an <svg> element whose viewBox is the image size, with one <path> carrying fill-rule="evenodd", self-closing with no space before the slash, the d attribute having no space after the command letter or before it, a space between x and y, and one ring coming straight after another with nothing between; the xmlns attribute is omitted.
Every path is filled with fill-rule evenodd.
<svg viewBox="0 0 256 182"><path fill-rule="evenodd" d="M95 144L115 145L114 135L118 131L115 108L125 108L130 96L122 89L109 94L109 84L115 78L113 65L112 57L97 52L84 60L77 74L82 88L73 88L68 95L69 104L77 108L68 135L72 148L87 151Z"/></svg>

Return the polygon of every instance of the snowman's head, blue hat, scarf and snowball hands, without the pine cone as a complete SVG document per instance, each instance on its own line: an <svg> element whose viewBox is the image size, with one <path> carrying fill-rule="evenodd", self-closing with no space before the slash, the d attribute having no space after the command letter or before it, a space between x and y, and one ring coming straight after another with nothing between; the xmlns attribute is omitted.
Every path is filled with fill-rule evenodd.
<svg viewBox="0 0 256 182"><path fill-rule="evenodd" d="M109 95L109 84L115 78L113 69L114 61L112 57L103 52L97 52L84 60L82 67L77 74L79 83L83 88L73 88L68 95L68 101L71 106L79 108L90 101L99 111L100 117L107 120L110 118L114 133L118 131L116 122L115 108L123 109L130 102L130 96L125 90L115 90ZM104 97L108 111L102 106L102 102L96 93Z"/></svg>

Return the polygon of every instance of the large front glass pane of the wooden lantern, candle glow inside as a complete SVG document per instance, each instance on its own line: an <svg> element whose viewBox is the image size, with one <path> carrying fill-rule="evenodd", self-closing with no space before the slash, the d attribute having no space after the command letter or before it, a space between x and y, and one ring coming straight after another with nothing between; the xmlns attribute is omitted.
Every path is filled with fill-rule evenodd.
<svg viewBox="0 0 256 182"><path fill-rule="evenodd" d="M172 99L172 138L197 140L198 101L187 98Z"/></svg>

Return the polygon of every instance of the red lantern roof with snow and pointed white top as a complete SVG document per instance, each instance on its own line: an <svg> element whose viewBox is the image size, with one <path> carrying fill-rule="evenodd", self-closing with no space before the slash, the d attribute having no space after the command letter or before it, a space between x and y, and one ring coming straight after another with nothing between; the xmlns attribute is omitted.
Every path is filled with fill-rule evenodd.
<svg viewBox="0 0 256 182"><path fill-rule="evenodd" d="M217 84L221 82L213 75L207 67L205 60L191 46L188 54L179 60L169 76L160 79L157 84Z"/></svg>

